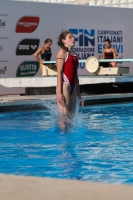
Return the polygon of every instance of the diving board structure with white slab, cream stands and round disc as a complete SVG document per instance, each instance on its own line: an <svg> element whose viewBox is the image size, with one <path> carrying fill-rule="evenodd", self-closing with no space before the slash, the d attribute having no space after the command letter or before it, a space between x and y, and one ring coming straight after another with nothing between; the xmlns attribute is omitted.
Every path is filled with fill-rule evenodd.
<svg viewBox="0 0 133 200"><path fill-rule="evenodd" d="M86 69L93 74L79 76L80 85L133 82L133 75L129 75L129 67L104 68L99 65L100 62L133 62L133 58L98 60L96 57L89 57L87 60L79 60L79 63L86 63ZM7 88L55 87L57 85L55 63L56 61L44 61L42 77L1 78L0 84Z"/></svg>

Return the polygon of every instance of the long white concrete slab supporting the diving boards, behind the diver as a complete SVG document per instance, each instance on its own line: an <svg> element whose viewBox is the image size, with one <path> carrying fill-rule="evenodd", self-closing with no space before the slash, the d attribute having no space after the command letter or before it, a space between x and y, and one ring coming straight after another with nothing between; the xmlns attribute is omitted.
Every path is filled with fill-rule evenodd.
<svg viewBox="0 0 133 200"><path fill-rule="evenodd" d="M89 75L79 76L79 84L101 84L101 83L127 83L133 82L133 74L127 75ZM57 85L56 76L46 77L22 77L22 78L1 78L0 84L7 88L19 87L55 87Z"/></svg>

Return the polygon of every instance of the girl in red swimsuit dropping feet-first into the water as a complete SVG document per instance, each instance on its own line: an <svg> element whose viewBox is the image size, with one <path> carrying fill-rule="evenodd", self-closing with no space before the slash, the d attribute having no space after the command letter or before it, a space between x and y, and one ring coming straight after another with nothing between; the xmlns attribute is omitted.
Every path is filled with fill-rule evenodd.
<svg viewBox="0 0 133 200"><path fill-rule="evenodd" d="M70 31L62 31L58 37L58 46L61 49L56 56L57 87L56 96L61 119L60 128L67 127L67 117L72 118L76 108L76 96L84 106L80 95L79 79L77 73L78 57L73 52L75 39Z"/></svg>

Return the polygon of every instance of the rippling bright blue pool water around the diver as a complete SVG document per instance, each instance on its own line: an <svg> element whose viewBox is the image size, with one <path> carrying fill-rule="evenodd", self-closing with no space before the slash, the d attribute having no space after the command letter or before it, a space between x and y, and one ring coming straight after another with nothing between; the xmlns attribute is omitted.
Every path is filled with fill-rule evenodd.
<svg viewBox="0 0 133 200"><path fill-rule="evenodd" d="M67 132L50 111L1 113L0 173L133 184L133 104L83 108Z"/></svg>

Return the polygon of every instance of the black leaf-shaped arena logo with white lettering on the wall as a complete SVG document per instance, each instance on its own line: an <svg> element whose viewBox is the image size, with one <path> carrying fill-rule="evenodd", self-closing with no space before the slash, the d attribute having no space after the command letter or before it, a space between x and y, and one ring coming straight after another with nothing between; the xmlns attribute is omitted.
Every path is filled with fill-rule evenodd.
<svg viewBox="0 0 133 200"><path fill-rule="evenodd" d="M39 47L39 39L24 39L22 40L16 49L16 55L32 55Z"/></svg>

